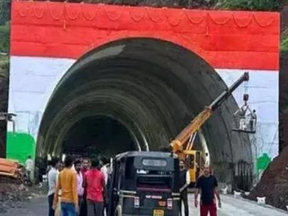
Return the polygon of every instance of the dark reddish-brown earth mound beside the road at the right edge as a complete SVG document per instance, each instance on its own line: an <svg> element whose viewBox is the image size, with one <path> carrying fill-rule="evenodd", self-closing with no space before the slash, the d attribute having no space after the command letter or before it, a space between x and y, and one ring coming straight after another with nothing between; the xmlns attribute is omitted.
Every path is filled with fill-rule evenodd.
<svg viewBox="0 0 288 216"><path fill-rule="evenodd" d="M276 208L287 210L288 205L288 147L276 157L263 176L252 189L249 199L257 201L257 197L266 197L266 203Z"/></svg>

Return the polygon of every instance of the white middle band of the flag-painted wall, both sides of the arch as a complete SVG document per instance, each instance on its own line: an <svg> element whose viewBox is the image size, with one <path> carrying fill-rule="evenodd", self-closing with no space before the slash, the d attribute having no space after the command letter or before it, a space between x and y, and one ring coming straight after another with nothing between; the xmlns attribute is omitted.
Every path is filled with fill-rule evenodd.
<svg viewBox="0 0 288 216"><path fill-rule="evenodd" d="M29 132L36 139L43 112L53 89L76 60L64 58L11 57L9 112L18 114L16 131ZM227 86L244 71L250 71L247 93L259 120L257 145L270 156L278 154L278 71L216 69ZM245 88L233 96L242 104ZM12 130L12 125L8 125Z"/></svg>

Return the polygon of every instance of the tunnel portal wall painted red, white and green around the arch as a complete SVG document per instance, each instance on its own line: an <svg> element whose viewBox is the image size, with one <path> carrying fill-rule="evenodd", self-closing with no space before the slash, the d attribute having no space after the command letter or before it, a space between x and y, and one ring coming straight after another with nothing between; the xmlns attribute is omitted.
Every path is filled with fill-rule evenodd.
<svg viewBox="0 0 288 216"><path fill-rule="evenodd" d="M7 156L35 154L43 112L60 79L88 51L123 38L175 43L206 60L229 86L244 71L243 93L258 117L257 156L278 155L279 14L141 8L87 3L12 2ZM19 147L23 150L19 151ZM25 149L25 150L24 150Z"/></svg>

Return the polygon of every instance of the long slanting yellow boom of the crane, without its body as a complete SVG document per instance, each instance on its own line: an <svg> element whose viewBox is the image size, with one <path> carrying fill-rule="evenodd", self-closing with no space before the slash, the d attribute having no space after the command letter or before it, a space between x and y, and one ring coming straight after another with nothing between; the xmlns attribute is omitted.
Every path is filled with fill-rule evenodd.
<svg viewBox="0 0 288 216"><path fill-rule="evenodd" d="M172 152L179 152L183 150L183 145L187 143L189 137L194 132L197 132L201 128L201 126L213 115L213 112L223 104L223 102L235 91L238 86L240 86L243 82L247 82L249 80L249 73L245 72L239 79L232 84L229 88L227 88L219 97L217 97L209 106L206 106L202 112L200 112L197 117L195 117L189 125L187 125L181 132L176 136L170 143L170 147Z"/></svg>

